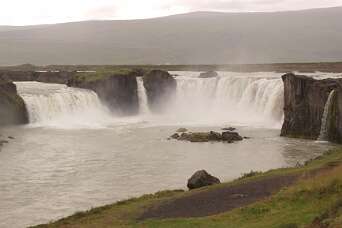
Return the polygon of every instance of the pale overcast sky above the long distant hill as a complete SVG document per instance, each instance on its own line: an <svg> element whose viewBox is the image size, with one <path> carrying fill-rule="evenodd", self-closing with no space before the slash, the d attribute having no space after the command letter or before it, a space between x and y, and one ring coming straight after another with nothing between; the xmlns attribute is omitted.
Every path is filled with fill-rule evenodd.
<svg viewBox="0 0 342 228"><path fill-rule="evenodd" d="M1 0L0 25L141 19L191 11L283 11L342 6L342 0Z"/></svg>

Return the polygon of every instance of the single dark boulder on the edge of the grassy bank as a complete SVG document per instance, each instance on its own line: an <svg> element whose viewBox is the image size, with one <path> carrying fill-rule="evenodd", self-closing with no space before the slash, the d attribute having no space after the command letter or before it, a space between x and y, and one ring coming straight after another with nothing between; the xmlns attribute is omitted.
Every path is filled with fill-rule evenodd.
<svg viewBox="0 0 342 228"><path fill-rule="evenodd" d="M196 188L202 188L209 185L220 184L220 180L212 175L210 175L205 170L197 171L194 175L190 177L188 180L188 188L190 190Z"/></svg>

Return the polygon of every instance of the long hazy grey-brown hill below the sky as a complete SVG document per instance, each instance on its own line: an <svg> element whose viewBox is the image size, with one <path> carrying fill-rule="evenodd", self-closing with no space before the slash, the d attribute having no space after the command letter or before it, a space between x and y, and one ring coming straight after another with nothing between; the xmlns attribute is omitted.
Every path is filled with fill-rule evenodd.
<svg viewBox="0 0 342 228"><path fill-rule="evenodd" d="M341 61L341 15L336 7L0 26L0 65Z"/></svg>

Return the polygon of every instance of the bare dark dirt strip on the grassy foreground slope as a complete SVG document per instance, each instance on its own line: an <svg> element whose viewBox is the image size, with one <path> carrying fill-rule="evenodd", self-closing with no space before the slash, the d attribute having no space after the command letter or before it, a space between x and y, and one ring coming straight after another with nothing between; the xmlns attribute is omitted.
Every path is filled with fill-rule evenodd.
<svg viewBox="0 0 342 228"><path fill-rule="evenodd" d="M276 176L198 192L148 209L141 220L152 218L189 218L216 215L269 197L293 184L298 175Z"/></svg>

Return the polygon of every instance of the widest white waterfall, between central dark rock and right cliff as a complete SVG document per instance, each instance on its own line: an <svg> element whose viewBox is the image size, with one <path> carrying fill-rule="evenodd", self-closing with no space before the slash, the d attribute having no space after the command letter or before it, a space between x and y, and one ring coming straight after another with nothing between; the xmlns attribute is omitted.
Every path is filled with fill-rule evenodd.
<svg viewBox="0 0 342 228"><path fill-rule="evenodd" d="M221 72L217 78L198 78L192 73L177 73L182 76L176 77L176 95L164 119L189 124L281 127L284 87L280 75L234 76L236 73Z"/></svg>

